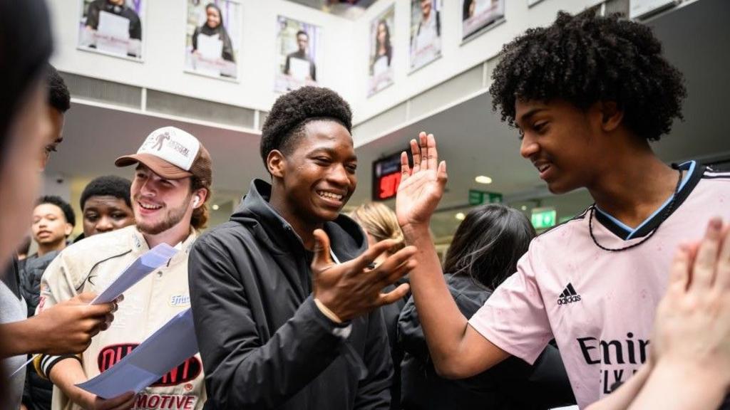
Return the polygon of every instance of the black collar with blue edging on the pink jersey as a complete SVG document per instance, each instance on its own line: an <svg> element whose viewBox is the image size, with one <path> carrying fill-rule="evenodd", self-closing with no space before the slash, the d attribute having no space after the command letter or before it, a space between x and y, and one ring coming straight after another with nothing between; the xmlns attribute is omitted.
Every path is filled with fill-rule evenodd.
<svg viewBox="0 0 730 410"><path fill-rule="evenodd" d="M692 170L693 164L694 170ZM627 231L626 225L619 223L617 220L615 220L615 218L611 217L605 211L597 207L595 212L596 220L609 231L611 231L611 233L623 239L624 241L647 236L651 231L653 231L666 218L668 218L669 215L673 214L683 204L685 199L687 199L689 194L691 194L694 190L694 187L697 186L699 180L702 179L702 175L704 174L705 170L705 166L702 166L694 161L688 161L682 163L681 165L673 163L672 168L681 169L683 171L692 171L692 174L689 175L688 179L686 179L686 181L684 182L683 187L681 187L681 189L677 193L677 198L675 199L675 203L672 206L672 210L671 212L669 212L669 214L667 214L666 212L661 212L661 209L658 209L657 212L654 212L654 214L652 214L652 216L648 220L645 220L642 225L639 225L640 228L637 231ZM667 204L664 204L664 206L667 206ZM662 207L662 209L663 208L664 207Z"/></svg>

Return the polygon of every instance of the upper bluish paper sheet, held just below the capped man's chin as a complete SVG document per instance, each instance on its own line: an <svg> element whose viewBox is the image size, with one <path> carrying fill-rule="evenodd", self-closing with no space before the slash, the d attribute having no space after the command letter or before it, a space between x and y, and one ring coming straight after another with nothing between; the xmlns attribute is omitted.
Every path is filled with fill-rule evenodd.
<svg viewBox="0 0 730 410"><path fill-rule="evenodd" d="M117 276L117 279L115 279L111 285L104 289L104 292L101 292L93 301L91 301L91 304L97 305L100 303L109 303L114 301L119 297L119 295L124 293L125 290L142 280L142 278L150 274L156 268L167 263L167 261L176 253L177 250L174 247L171 247L168 244L158 244L156 247L153 247L151 250L145 252L144 255L137 258L137 260L134 260L130 266Z"/></svg>

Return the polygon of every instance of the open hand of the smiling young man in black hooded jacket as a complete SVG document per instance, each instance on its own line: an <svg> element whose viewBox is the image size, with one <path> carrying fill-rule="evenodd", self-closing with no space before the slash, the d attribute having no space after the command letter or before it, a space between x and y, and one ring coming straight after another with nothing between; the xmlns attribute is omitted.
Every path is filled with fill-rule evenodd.
<svg viewBox="0 0 730 410"><path fill-rule="evenodd" d="M402 284L389 293L383 288L415 268L415 247L404 247L389 256L376 268L368 266L383 252L396 244L386 240L374 244L358 258L339 265L330 256L329 238L318 229L314 232L316 247L312 260L314 297L340 320L347 321L385 304L393 303L408 293L408 284Z"/></svg>

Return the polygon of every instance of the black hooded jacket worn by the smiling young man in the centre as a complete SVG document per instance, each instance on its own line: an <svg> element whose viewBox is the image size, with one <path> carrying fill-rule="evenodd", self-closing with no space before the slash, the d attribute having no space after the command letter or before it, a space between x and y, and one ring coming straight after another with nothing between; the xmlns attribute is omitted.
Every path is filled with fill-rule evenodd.
<svg viewBox="0 0 730 410"><path fill-rule="evenodd" d="M342 330L312 300L312 252L255 179L241 206L194 244L188 264L206 409L388 409L393 365L380 309ZM367 247L340 215L326 223L341 262Z"/></svg>

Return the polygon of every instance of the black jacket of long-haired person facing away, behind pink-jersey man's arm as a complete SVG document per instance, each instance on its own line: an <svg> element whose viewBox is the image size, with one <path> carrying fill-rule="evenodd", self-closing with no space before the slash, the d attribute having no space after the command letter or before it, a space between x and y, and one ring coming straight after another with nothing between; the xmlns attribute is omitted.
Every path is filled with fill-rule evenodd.
<svg viewBox="0 0 730 410"><path fill-rule="evenodd" d="M446 275L445 279L456 305L467 318L492 294L471 276ZM405 351L401 362L404 410L535 410L575 403L560 353L551 345L534 365L509 357L476 376L449 380L436 374L413 298L401 312L398 333Z"/></svg>

